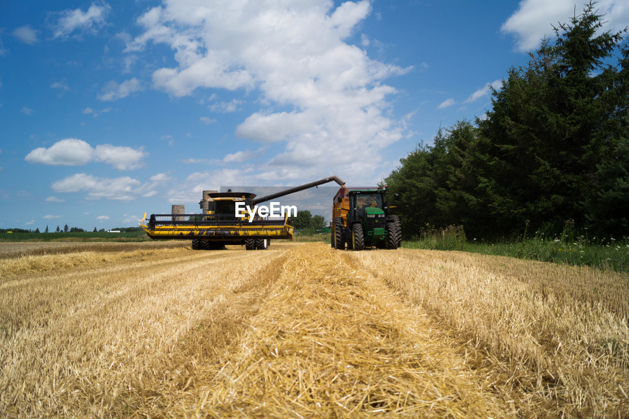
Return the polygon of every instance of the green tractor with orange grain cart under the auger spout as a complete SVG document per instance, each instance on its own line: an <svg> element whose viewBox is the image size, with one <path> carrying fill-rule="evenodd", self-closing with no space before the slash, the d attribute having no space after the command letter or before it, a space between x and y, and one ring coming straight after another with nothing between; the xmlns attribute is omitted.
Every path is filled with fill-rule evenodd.
<svg viewBox="0 0 629 419"><path fill-rule="evenodd" d="M334 197L331 225L331 247L363 250L398 249L402 228L394 206L386 201L386 189L341 187Z"/></svg>

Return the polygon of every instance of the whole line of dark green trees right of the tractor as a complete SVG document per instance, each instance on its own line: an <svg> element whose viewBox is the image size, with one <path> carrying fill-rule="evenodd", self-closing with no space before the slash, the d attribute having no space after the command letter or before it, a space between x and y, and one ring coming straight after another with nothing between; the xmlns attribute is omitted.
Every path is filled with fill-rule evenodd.
<svg viewBox="0 0 629 419"><path fill-rule="evenodd" d="M590 3L491 91L483 118L440 128L385 179L408 236L629 236L629 46Z"/></svg>

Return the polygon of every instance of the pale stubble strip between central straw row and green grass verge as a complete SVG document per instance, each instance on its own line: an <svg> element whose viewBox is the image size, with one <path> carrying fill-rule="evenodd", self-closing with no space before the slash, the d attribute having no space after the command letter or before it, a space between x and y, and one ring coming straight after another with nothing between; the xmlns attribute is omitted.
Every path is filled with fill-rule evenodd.
<svg viewBox="0 0 629 419"><path fill-rule="evenodd" d="M629 416L629 277L506 257L350 255L462 340L486 347L523 416Z"/></svg>

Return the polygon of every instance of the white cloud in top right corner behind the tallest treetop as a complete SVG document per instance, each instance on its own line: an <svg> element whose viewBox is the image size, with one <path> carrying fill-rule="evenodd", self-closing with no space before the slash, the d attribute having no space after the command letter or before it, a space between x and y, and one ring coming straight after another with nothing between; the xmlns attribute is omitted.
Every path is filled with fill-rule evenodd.
<svg viewBox="0 0 629 419"><path fill-rule="evenodd" d="M576 4L577 15L582 11L581 5ZM604 31L623 30L629 21L629 3L626 0L599 0L595 9L598 9L597 14L605 15ZM544 36L554 36L551 25L568 23L574 12L575 3L572 0L522 0L518 10L503 23L501 30L513 34L516 49L526 52L537 48Z"/></svg>

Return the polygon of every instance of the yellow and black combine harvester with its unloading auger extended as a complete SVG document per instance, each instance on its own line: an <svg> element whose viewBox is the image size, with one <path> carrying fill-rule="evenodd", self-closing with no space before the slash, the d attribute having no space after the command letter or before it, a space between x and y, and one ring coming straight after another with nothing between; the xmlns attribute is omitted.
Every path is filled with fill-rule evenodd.
<svg viewBox="0 0 629 419"><path fill-rule="evenodd" d="M288 214L284 220L269 220L252 216L245 208L255 208L270 199L328 182L345 185L340 177L330 176L260 198L252 193L231 190L223 193L203 191L203 199L199 202L201 214L152 214L147 220L145 213L140 227L154 240L192 240L194 250L222 249L228 244L245 245L247 250L266 249L271 239L292 239L293 227L288 224Z"/></svg>

